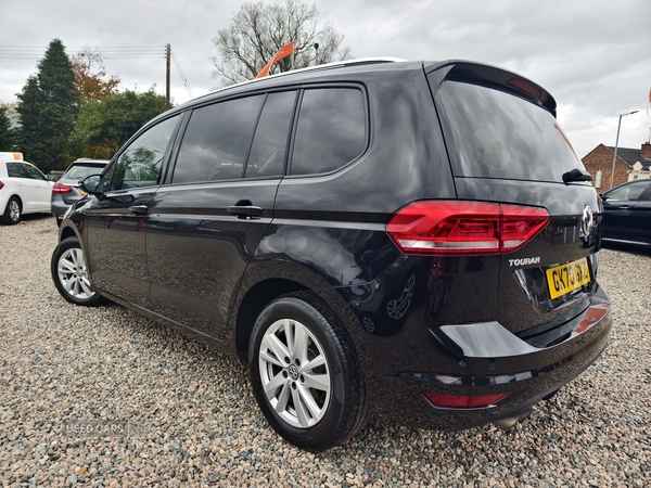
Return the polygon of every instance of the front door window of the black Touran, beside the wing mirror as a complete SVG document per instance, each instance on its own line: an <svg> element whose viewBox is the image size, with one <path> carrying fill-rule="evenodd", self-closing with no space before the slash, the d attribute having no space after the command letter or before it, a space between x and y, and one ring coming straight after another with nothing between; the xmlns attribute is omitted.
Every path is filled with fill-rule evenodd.
<svg viewBox="0 0 651 488"><path fill-rule="evenodd" d="M108 191L157 184L161 165L178 120L177 115L156 124L122 152Z"/></svg>

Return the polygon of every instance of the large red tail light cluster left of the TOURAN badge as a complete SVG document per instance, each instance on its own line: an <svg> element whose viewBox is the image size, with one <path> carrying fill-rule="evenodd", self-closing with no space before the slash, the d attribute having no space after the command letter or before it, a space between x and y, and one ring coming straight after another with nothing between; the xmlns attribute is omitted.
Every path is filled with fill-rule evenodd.
<svg viewBox="0 0 651 488"><path fill-rule="evenodd" d="M386 232L404 254L485 255L524 246L548 222L549 213L540 207L423 201L394 214Z"/></svg>

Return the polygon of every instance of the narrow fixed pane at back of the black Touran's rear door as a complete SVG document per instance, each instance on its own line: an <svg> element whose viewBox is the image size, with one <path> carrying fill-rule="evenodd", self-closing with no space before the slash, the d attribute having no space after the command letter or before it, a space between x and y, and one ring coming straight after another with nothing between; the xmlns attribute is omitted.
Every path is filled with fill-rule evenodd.
<svg viewBox="0 0 651 488"><path fill-rule="evenodd" d="M295 91L269 93L255 129L245 178L282 175Z"/></svg>

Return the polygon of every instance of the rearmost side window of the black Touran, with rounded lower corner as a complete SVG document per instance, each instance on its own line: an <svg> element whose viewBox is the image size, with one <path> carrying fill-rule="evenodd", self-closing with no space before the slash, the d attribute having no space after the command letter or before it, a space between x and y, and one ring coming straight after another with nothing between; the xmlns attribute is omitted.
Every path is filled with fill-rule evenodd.
<svg viewBox="0 0 651 488"><path fill-rule="evenodd" d="M329 172L356 159L366 149L366 121L361 90L305 90L290 174Z"/></svg>

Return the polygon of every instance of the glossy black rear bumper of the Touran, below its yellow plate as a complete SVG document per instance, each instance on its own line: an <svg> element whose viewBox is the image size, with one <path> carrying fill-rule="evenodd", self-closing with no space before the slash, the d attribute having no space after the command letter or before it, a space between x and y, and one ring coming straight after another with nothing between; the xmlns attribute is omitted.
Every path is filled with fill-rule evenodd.
<svg viewBox="0 0 651 488"><path fill-rule="evenodd" d="M566 338L551 347L532 346L497 322L430 330L430 339L421 336L421 344L413 345L418 359L407 356L400 361L403 368L394 362L393 371L378 374L375 369L368 375L375 413L400 424L441 431L511 416L549 397L595 362L607 347L611 326L611 305L597 285L587 308L563 324ZM422 355L427 358L423 360ZM427 362L431 367L423 368ZM486 408L450 409L430 403L426 391L509 395Z"/></svg>

